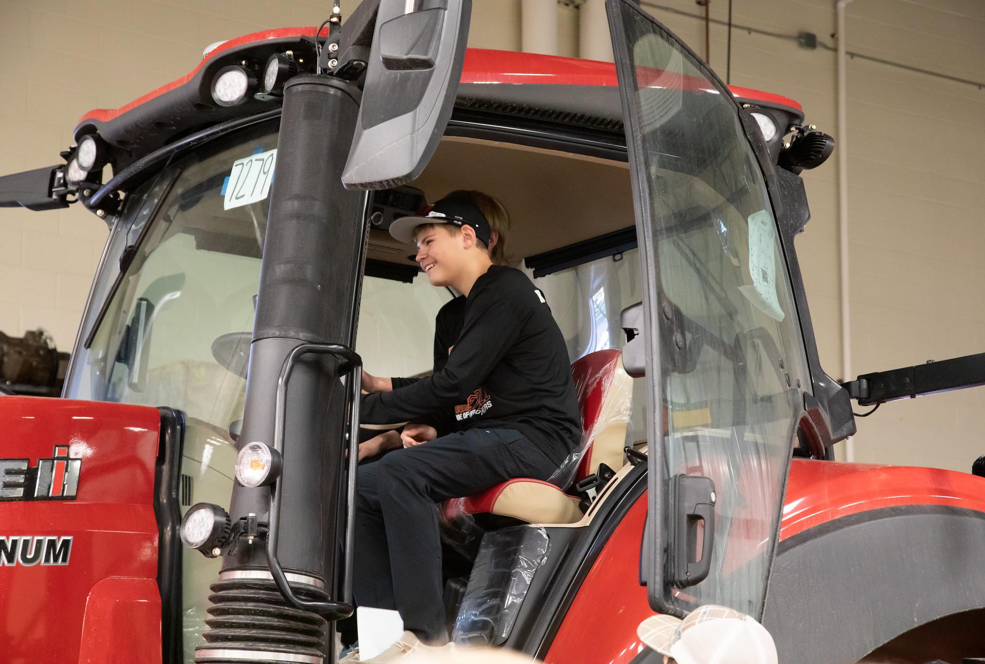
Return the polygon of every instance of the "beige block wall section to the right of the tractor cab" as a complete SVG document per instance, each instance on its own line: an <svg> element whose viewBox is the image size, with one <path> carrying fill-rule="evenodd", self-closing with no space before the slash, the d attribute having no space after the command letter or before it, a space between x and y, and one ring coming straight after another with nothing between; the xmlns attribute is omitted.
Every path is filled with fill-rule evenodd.
<svg viewBox="0 0 985 664"><path fill-rule="evenodd" d="M702 56L703 14L690 0L641 5ZM727 21L728 2L710 16ZM833 0L733 2L731 83L798 100L847 147L850 377L985 352L985 90L863 58L847 67L848 133L836 134ZM985 83L985 5L855 0L847 49ZM821 47L805 49L802 31ZM828 44L831 48L824 48ZM727 29L710 26L710 64L725 78ZM841 377L835 158L804 181L812 221L798 237L821 362ZM865 411L867 409L856 409ZM985 453L985 388L884 405L857 420L856 461L968 471ZM846 445L836 447L844 458Z"/></svg>

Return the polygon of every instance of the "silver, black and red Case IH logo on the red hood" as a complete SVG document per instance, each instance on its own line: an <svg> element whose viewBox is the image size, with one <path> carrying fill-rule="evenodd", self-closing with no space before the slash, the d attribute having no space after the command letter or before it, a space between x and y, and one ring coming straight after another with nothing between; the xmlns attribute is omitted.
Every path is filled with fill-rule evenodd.
<svg viewBox="0 0 985 664"><path fill-rule="evenodd" d="M68 447L55 446L50 459L0 459L0 500L74 500L79 492L81 459Z"/></svg>

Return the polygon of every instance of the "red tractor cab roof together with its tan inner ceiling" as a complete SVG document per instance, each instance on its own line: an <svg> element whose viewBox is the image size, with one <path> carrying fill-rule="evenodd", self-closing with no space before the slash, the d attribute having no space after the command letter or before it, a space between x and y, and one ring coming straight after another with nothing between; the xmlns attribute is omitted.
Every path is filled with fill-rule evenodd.
<svg viewBox="0 0 985 664"><path fill-rule="evenodd" d="M313 69L312 37L304 35L314 32L314 28L286 28L223 42L207 51L185 76L119 108L88 112L76 128L76 140L98 133L116 154L114 171L118 172L220 123L261 115L273 120L279 99L247 95L235 105L223 106L212 98L212 82L230 66L261 72L271 55L286 51L291 51L301 71ZM715 92L707 90L705 81L689 77L677 79L675 85L689 92ZM803 121L801 106L794 100L734 86L730 90L737 99L772 113L780 126ZM496 131L486 131L493 125ZM580 136L581 144L567 147L532 138L550 134L545 128ZM625 160L614 64L470 48L452 124L414 186L431 201L453 189L493 195L513 218L511 258L527 259L531 267L543 263L547 269L560 269L568 254L576 254L580 262L586 251L611 254L635 244ZM137 174L136 180L140 179ZM221 203L215 205L215 217L230 215ZM588 248L579 244L589 241ZM383 227L370 232L368 249L370 260L403 266L405 278L417 270L414 247L399 243Z"/></svg>

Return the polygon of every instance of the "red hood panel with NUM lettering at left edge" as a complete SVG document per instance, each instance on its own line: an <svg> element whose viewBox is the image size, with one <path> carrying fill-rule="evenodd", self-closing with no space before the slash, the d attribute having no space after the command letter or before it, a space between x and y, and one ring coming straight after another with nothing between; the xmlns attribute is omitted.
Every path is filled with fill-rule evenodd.
<svg viewBox="0 0 985 664"><path fill-rule="evenodd" d="M89 602L87 613L87 599L107 577L150 579L141 586L146 596L129 599L152 610L157 601L160 622L154 515L160 427L153 408L0 397L0 460L27 459L36 469L39 459L53 459L50 485L57 486L43 492L46 499L0 498L0 659L5 663L79 661L84 617L99 622L93 612L106 604ZM53 454L56 447L67 448L57 451L67 451L68 461ZM72 482L65 478L73 474L67 464L74 461L80 462L76 498L61 499L59 491L71 492ZM8 470L6 479L11 477ZM10 564L3 548L9 552L15 546ZM32 563L38 546L41 553ZM160 657L160 633L146 638L157 643Z"/></svg>

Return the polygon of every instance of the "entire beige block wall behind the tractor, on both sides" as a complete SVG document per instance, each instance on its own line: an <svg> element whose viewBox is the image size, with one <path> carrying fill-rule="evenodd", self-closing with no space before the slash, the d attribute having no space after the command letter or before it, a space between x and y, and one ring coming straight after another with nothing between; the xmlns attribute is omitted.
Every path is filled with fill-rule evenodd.
<svg viewBox="0 0 985 664"><path fill-rule="evenodd" d="M597 0L589 0L597 1ZM342 3L345 12L355 6ZM470 44L520 49L520 0L474 0ZM579 50L578 2L558 4L558 53ZM704 54L692 0L642 6ZM78 118L133 100L195 66L213 41L273 26L317 25L327 0L0 0L0 173L47 166ZM727 19L728 1L710 16ZM800 101L835 133L833 0L734 0L731 83ZM849 50L985 79L985 4L855 0ZM764 34L772 33L772 34ZM50 44L46 47L45 44ZM727 31L710 26L724 78ZM848 63L853 373L985 350L985 91L864 59ZM840 144L846 137L836 137ZM798 239L821 360L842 364L834 160L805 174L813 220ZM78 207L0 210L0 330L41 326L71 348L106 229ZM887 404L859 420L855 458L966 470L982 450L985 388ZM843 445L839 445L842 448Z"/></svg>

